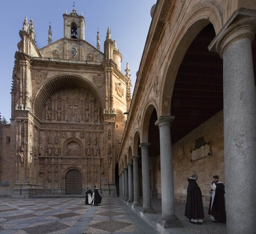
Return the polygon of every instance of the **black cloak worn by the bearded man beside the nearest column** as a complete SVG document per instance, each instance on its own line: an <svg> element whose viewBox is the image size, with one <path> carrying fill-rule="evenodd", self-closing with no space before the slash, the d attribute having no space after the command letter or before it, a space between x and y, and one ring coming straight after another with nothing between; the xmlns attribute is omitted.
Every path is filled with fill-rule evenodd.
<svg viewBox="0 0 256 234"><path fill-rule="evenodd" d="M216 220L219 223L226 222L226 209L225 209L225 189L223 183L215 183L216 190L214 195L214 200L212 204L212 197L210 200L209 210L208 214L212 215L214 217L214 220ZM211 209L212 204L212 209Z"/></svg>

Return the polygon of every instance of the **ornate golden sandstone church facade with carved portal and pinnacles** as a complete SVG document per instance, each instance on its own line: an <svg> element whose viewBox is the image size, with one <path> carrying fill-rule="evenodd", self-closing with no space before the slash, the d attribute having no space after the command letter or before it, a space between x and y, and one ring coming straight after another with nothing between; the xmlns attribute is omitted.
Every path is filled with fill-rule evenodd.
<svg viewBox="0 0 256 234"><path fill-rule="evenodd" d="M116 196L115 166L130 94L128 64L111 29L104 53L84 39L85 19L65 12L64 37L39 49L25 21L15 53L10 125L1 126L0 195Z"/></svg>

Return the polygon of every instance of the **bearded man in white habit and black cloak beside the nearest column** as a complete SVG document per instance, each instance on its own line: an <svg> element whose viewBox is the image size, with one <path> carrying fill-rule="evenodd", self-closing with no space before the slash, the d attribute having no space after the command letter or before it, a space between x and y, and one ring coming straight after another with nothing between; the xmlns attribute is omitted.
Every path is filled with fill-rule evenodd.
<svg viewBox="0 0 256 234"><path fill-rule="evenodd" d="M221 181L219 181L219 176L213 176L211 183L212 186L210 193L212 193L212 195L210 199L208 214L211 215L211 219L214 223L225 223L225 186Z"/></svg>

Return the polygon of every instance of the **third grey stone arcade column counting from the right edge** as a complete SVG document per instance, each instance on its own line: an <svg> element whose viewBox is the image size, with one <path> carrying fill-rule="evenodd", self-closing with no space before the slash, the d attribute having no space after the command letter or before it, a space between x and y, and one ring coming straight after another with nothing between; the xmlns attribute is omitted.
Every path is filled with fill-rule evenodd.
<svg viewBox="0 0 256 234"><path fill-rule="evenodd" d="M142 192L143 192L143 213L154 213L151 206L150 198L150 174L149 174L149 158L148 147L150 143L141 143L141 163L142 163Z"/></svg>

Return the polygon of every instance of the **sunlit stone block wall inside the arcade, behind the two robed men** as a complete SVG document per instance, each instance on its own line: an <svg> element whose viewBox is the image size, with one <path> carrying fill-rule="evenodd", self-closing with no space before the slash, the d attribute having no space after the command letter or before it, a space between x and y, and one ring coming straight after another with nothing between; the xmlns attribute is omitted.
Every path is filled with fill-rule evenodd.
<svg viewBox="0 0 256 234"><path fill-rule="evenodd" d="M206 142L211 141L212 156L191 163L190 150L194 149L195 141L199 137L203 137ZM187 178L197 173L199 176L197 183L202 191L204 206L209 205L212 176L218 175L219 180L225 182L223 142L223 111L220 111L172 146L175 201L186 202ZM160 157L158 157L157 166L158 197L160 198L161 175L159 169Z"/></svg>

